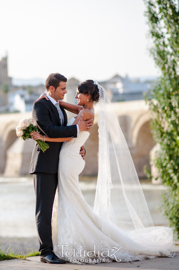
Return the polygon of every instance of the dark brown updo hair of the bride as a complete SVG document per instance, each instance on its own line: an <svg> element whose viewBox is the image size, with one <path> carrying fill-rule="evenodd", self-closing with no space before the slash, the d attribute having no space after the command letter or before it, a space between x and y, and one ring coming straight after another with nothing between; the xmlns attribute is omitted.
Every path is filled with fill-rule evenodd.
<svg viewBox="0 0 179 270"><path fill-rule="evenodd" d="M91 101L99 101L99 90L97 85L94 84L93 80L86 80L85 82L80 82L77 85L77 89L81 94L90 95Z"/></svg>

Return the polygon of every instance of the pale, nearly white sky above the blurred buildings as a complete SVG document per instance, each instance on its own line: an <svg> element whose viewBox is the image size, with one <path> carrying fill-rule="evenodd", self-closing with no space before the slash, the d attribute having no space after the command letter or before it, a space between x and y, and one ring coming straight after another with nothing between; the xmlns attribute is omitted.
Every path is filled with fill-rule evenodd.
<svg viewBox="0 0 179 270"><path fill-rule="evenodd" d="M144 11L143 0L4 0L0 58L21 79L158 76Z"/></svg>

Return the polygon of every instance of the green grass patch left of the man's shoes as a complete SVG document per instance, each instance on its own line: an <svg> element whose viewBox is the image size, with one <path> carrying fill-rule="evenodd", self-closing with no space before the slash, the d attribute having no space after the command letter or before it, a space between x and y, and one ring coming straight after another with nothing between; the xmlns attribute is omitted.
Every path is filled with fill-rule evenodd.
<svg viewBox="0 0 179 270"><path fill-rule="evenodd" d="M0 244L1 246L1 244ZM12 259L21 259L21 260L25 260L25 258L27 257L33 257L33 256L39 256L40 252L36 251L33 249L33 247L30 248L30 251L24 255L24 254L20 254L19 253L15 253L10 251L10 246L8 247L7 251L4 252L4 250L1 250L0 248L0 261L4 261L4 260L12 260Z"/></svg>

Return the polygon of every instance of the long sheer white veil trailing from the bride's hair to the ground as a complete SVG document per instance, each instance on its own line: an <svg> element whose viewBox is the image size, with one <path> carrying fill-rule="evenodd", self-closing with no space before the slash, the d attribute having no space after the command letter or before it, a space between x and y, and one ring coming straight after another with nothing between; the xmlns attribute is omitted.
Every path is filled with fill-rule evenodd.
<svg viewBox="0 0 179 270"><path fill-rule="evenodd" d="M125 232L143 247L166 250L174 246L172 229L154 227L126 140L108 94L97 82L100 98L99 171L94 212L102 218L102 232ZM164 256L164 255L163 255Z"/></svg>

